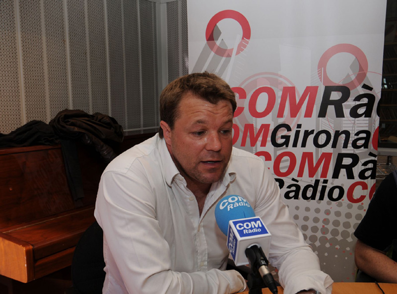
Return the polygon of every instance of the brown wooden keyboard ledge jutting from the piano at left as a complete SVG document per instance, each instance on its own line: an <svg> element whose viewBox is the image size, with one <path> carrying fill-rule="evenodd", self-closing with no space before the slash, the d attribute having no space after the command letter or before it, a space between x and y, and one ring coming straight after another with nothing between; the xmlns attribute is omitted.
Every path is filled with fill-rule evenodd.
<svg viewBox="0 0 397 294"><path fill-rule="evenodd" d="M91 206L0 233L0 275L27 283L71 265L93 212Z"/></svg>

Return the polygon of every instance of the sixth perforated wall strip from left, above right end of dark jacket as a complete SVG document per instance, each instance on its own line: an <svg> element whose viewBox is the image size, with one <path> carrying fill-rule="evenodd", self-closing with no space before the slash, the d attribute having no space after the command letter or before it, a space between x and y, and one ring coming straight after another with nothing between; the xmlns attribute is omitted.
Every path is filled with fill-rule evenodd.
<svg viewBox="0 0 397 294"><path fill-rule="evenodd" d="M107 2L112 117L125 128L123 23L120 0Z"/></svg>

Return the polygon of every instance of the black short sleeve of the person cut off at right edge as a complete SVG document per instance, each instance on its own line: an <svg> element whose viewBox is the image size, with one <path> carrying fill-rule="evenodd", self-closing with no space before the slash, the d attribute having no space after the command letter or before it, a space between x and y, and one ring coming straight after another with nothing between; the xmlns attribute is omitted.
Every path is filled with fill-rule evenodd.
<svg viewBox="0 0 397 294"><path fill-rule="evenodd" d="M397 222L397 186L393 173L379 185L368 210L354 231L363 243L384 251L393 243Z"/></svg>

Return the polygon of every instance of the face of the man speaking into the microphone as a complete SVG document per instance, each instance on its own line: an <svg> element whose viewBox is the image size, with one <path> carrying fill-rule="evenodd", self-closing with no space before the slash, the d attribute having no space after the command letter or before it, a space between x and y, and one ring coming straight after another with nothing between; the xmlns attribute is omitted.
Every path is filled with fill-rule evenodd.
<svg viewBox="0 0 397 294"><path fill-rule="evenodd" d="M188 186L214 183L223 177L232 151L232 120L229 101L211 104L187 93L179 104L174 128L160 123L171 157Z"/></svg>

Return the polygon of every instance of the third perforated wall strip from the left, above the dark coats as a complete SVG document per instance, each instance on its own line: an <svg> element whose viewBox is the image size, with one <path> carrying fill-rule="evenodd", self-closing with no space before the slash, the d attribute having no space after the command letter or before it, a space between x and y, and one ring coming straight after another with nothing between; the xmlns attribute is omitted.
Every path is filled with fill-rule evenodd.
<svg viewBox="0 0 397 294"><path fill-rule="evenodd" d="M50 119L68 108L64 5L44 0Z"/></svg>

